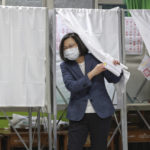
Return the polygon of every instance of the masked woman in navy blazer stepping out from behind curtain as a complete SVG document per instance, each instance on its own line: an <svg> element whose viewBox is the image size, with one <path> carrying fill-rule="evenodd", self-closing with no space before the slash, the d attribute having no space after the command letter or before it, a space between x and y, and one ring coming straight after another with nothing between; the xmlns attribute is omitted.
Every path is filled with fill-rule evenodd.
<svg viewBox="0 0 150 150"><path fill-rule="evenodd" d="M105 69L76 33L65 35L60 43L61 71L71 92L67 109L69 119L68 150L82 150L90 133L92 150L106 150L114 107L106 91L104 78L117 83L120 77ZM113 61L115 65L120 63Z"/></svg>

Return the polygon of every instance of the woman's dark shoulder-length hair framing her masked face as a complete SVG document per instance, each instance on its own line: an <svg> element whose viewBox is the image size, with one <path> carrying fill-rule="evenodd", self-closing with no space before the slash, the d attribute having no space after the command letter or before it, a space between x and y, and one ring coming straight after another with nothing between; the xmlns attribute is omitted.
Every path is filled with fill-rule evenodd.
<svg viewBox="0 0 150 150"><path fill-rule="evenodd" d="M64 41L68 38L73 38L75 40L76 44L78 45L79 51L80 51L80 56L84 56L85 54L88 53L88 49L84 45L82 40L80 39L79 35L77 33L68 33L62 38L60 45L59 45L59 54L63 61L69 61L68 59L66 59L64 57Z"/></svg>

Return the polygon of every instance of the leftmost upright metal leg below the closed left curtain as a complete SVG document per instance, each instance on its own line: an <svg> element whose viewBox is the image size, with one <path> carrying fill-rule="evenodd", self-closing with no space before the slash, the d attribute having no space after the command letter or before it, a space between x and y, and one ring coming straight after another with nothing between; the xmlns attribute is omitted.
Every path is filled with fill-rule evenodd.
<svg viewBox="0 0 150 150"><path fill-rule="evenodd" d="M29 111L29 150L32 150L32 107L28 109Z"/></svg>

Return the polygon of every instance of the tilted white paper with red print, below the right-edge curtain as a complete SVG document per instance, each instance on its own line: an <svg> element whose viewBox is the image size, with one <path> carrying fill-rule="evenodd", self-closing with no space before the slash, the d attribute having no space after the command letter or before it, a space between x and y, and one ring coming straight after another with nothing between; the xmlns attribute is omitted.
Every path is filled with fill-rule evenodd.
<svg viewBox="0 0 150 150"><path fill-rule="evenodd" d="M148 55L144 56L138 70L142 72L147 80L150 80L150 57Z"/></svg>

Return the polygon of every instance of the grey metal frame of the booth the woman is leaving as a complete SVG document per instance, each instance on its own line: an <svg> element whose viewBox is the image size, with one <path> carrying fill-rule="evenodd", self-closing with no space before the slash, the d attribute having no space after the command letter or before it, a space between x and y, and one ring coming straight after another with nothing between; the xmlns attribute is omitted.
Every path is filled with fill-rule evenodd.
<svg viewBox="0 0 150 150"><path fill-rule="evenodd" d="M56 125L56 114L57 114L57 103L56 103L56 90L58 91L58 93L61 95L62 99L64 100L65 104L66 104L66 100L65 100L65 97L63 96L63 93L60 91L59 87L56 85L56 10L54 9L53 10L54 12L54 16L53 16L53 76L55 78L55 80L53 80L53 84L54 84L54 89L53 89L53 113L54 113L54 150L57 149L57 139L56 139L56 135L57 135L57 125ZM120 24L120 27L119 27L119 46L120 46L120 61L122 63L125 64L125 53L124 53L124 28L123 28L123 24L124 24L124 14L122 13L122 10L119 10L118 11L119 15L118 15L118 19L119 19L119 24ZM54 79L53 78L53 79ZM126 90L125 90L126 91ZM126 93L126 92L125 92ZM127 150L128 149L128 143L127 143L127 105L126 105L126 94L123 94L123 101L122 101L122 106L121 108L119 109L121 111L121 122L118 122L117 120L117 117L116 115L114 114L115 116L115 119L116 119L116 123L117 123L117 127L116 129L114 130L113 132L113 135L112 137L110 138L110 141L108 141L108 144L107 146L110 145L114 135L117 133L118 130L122 130L122 140L123 140L123 150ZM114 96L113 96L114 98ZM122 128L120 129L120 125L122 125Z"/></svg>

